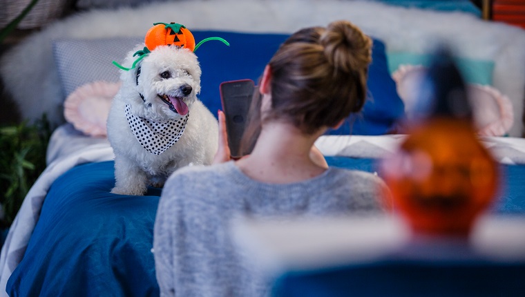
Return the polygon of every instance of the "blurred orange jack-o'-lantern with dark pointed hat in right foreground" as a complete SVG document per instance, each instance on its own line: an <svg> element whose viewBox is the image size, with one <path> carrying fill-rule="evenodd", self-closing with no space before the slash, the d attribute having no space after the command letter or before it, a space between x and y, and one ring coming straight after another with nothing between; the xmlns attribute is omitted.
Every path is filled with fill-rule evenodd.
<svg viewBox="0 0 525 297"><path fill-rule="evenodd" d="M465 238L495 198L498 166L476 135L468 89L449 50L437 50L419 88L417 116L385 159L383 178L414 234Z"/></svg>

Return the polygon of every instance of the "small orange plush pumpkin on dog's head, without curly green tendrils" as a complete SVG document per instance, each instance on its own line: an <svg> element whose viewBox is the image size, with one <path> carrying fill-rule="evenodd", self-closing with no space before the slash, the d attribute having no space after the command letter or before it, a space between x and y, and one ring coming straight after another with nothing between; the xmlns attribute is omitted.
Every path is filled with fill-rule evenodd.
<svg viewBox="0 0 525 297"><path fill-rule="evenodd" d="M149 50L157 46L178 46L192 52L195 49L193 34L180 23L154 23L146 32L144 43Z"/></svg>

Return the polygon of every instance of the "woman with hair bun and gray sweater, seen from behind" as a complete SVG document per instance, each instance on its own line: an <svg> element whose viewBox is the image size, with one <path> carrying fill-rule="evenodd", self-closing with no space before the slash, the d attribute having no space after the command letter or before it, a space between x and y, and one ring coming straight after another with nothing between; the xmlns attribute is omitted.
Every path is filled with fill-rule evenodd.
<svg viewBox="0 0 525 297"><path fill-rule="evenodd" d="M266 66L245 133L249 155L229 160L225 117L212 166L166 182L154 231L161 296L266 296L229 227L238 215L352 215L381 211L376 176L328 167L314 147L365 103L372 40L347 21L305 28Z"/></svg>

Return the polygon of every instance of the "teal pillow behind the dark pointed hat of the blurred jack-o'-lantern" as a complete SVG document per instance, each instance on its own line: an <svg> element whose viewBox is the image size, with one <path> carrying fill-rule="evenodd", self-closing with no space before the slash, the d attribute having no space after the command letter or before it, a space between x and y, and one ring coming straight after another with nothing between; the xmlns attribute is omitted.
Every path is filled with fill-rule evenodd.
<svg viewBox="0 0 525 297"><path fill-rule="evenodd" d="M413 52L387 52L387 56L390 73L403 64L429 66L432 61L432 55ZM456 62L466 82L492 86L494 61L456 57Z"/></svg>

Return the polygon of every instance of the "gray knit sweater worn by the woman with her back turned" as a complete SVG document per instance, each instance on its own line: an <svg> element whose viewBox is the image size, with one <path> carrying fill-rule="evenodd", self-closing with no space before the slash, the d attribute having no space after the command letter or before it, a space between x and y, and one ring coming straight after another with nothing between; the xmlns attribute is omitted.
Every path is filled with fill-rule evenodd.
<svg viewBox="0 0 525 297"><path fill-rule="evenodd" d="M153 236L161 296L265 296L229 234L237 215L341 215L381 209L376 176L330 167L315 178L267 184L234 162L189 166L164 186Z"/></svg>

